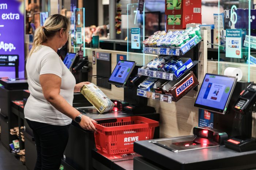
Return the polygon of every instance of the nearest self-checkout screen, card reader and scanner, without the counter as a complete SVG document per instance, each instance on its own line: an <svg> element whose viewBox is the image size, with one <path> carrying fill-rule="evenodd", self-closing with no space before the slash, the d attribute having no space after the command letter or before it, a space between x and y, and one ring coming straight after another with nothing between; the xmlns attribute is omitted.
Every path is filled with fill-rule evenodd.
<svg viewBox="0 0 256 170"><path fill-rule="evenodd" d="M194 127L193 137L184 137L183 140L182 138L166 139L153 143L174 152L220 146L224 143L227 148L240 152L256 150L256 140L252 138L252 112L256 102L256 84L249 84L239 96L233 94L233 91L241 88L242 84L244 83L237 83L235 77L206 74L194 104L195 107L223 114L223 117L233 112L235 115L233 119L245 121L244 126L238 128L240 131L235 136L234 133L226 133L225 129L219 131ZM231 98L236 99L236 102L230 102ZM230 123L226 126L236 125Z"/></svg>

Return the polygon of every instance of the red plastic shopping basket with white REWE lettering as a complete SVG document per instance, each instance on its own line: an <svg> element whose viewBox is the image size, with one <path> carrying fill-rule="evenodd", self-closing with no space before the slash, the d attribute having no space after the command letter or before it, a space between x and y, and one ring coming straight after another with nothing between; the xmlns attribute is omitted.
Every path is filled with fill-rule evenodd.
<svg viewBox="0 0 256 170"><path fill-rule="evenodd" d="M96 121L96 148L109 156L133 153L133 142L153 139L155 127L159 126L159 122L142 116Z"/></svg>

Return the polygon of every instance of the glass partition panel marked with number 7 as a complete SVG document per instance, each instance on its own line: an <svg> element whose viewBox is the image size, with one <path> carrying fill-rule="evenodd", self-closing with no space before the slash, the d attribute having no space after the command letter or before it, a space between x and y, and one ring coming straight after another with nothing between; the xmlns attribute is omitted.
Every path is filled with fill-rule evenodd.
<svg viewBox="0 0 256 170"><path fill-rule="evenodd" d="M139 4L127 4L127 60L135 61L139 65L145 64L145 55L136 54L143 52L145 37L145 13L138 11Z"/></svg>

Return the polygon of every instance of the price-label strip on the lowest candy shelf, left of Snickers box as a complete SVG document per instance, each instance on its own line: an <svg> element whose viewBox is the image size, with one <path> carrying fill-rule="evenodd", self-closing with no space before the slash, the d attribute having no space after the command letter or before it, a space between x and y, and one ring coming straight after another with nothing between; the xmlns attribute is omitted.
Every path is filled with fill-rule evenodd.
<svg viewBox="0 0 256 170"><path fill-rule="evenodd" d="M149 99L159 100L161 102L172 103L173 97L169 95L159 94L156 92L137 89L137 95Z"/></svg>

